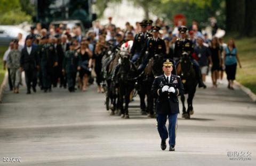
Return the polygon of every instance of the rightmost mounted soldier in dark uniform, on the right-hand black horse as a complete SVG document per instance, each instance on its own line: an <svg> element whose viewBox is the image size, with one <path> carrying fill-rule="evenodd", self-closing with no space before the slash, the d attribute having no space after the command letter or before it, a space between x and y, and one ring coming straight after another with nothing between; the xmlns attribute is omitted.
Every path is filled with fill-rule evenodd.
<svg viewBox="0 0 256 166"><path fill-rule="evenodd" d="M187 52L190 55L190 60L193 63L193 66L195 68L196 77L198 80L198 87L206 88L206 85L202 81L202 74L201 74L200 66L197 63L197 61L193 57L191 57L191 54L194 52L194 46L193 46L193 42L189 38L186 38L187 30L188 29L185 26L181 26L179 28L181 38L179 38L175 41L173 60L175 60L175 62L176 62L175 65L177 65L182 53Z"/></svg>

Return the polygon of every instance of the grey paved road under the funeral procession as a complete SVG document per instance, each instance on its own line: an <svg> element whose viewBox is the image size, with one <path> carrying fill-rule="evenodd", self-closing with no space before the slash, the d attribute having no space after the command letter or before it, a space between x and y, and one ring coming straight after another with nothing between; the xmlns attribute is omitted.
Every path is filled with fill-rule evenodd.
<svg viewBox="0 0 256 166"><path fill-rule="evenodd" d="M226 86L196 92L195 115L179 115L175 152L160 149L156 120L140 115L137 98L131 119L121 119L108 115L95 85L76 93L26 95L22 88L15 95L6 89L0 165L256 165L256 104ZM251 153L251 160L230 160L231 151ZM6 163L4 157L21 162Z"/></svg>

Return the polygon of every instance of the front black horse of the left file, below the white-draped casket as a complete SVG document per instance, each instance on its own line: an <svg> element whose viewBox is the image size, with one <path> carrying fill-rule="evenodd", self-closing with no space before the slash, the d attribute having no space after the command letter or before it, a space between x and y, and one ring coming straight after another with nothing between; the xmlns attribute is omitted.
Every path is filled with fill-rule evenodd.
<svg viewBox="0 0 256 166"><path fill-rule="evenodd" d="M121 111L121 118L129 119L130 94L134 89L135 76L137 68L130 60L130 54L127 51L119 52L118 65L116 66L113 81L118 89L118 106ZM123 103L125 101L125 106Z"/></svg>

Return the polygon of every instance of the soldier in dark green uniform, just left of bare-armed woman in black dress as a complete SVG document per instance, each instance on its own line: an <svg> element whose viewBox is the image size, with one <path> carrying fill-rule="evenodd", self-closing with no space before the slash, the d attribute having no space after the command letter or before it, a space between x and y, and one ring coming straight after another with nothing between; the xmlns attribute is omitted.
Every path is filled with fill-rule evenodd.
<svg viewBox="0 0 256 166"><path fill-rule="evenodd" d="M62 72L67 75L68 90L75 92L76 73L81 69L82 60L75 50L75 43L71 42L62 62Z"/></svg>

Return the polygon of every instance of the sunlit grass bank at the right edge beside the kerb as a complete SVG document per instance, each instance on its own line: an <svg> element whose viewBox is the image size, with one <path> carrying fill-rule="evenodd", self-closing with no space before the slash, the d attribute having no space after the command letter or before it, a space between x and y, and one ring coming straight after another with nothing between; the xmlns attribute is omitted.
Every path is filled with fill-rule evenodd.
<svg viewBox="0 0 256 166"><path fill-rule="evenodd" d="M235 39L235 43L242 65L237 67L236 80L256 93L256 38Z"/></svg>

